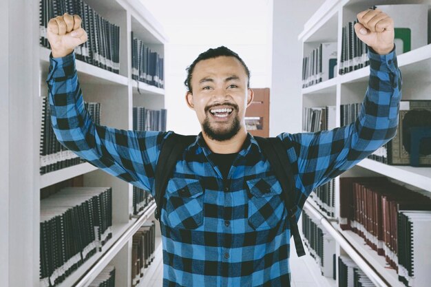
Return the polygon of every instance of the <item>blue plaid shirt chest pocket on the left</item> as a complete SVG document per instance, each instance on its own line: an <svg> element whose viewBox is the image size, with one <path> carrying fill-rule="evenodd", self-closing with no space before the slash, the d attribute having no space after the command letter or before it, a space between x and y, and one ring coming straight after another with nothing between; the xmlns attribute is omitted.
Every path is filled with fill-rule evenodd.
<svg viewBox="0 0 431 287"><path fill-rule="evenodd" d="M171 228L194 229L202 225L204 190L199 180L171 178L166 189L165 214L162 220Z"/></svg>

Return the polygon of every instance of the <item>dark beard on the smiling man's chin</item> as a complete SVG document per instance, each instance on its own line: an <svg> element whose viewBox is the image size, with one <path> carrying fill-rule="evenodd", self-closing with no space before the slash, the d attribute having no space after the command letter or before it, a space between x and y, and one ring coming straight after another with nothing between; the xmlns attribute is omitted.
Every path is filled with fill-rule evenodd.
<svg viewBox="0 0 431 287"><path fill-rule="evenodd" d="M207 134L209 138L211 138L211 140L217 140L219 142L222 142L224 140L230 140L236 134L238 134L238 131L240 131L241 124L240 118L238 116L238 106L232 105L232 107L232 112L235 112L235 116L233 117L231 123L224 124L224 127L213 127L213 125L211 125L210 123L208 115L204 119L204 123L202 123L202 129L204 133ZM209 107L206 110L207 112L209 112Z"/></svg>

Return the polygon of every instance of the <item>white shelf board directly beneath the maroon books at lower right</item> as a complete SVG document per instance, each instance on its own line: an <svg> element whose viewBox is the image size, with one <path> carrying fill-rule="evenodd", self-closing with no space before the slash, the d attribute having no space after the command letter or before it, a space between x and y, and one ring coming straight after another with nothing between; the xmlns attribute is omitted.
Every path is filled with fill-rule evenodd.
<svg viewBox="0 0 431 287"><path fill-rule="evenodd" d="M344 231L339 228L338 224L333 226L343 235L348 242L357 250L357 252L364 257L370 266L372 266L377 273L381 275L386 281L388 281L391 287L406 287L401 281L398 281L398 274L395 269L392 269L389 264L386 264L385 257L377 255L377 252L372 250L365 241L354 233L353 231Z"/></svg>

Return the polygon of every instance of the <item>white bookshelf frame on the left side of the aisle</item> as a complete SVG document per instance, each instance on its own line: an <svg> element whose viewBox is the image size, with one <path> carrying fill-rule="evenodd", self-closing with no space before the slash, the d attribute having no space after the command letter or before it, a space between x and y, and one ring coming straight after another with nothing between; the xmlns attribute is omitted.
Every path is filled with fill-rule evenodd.
<svg viewBox="0 0 431 287"><path fill-rule="evenodd" d="M120 70L115 74L76 61L84 99L101 103L101 125L132 129L133 107L164 108L165 89L132 80L131 32L140 36L162 57L165 56L167 37L140 1L85 2L110 23L120 27ZM8 94L5 105L2 100L0 109L6 127L4 141L8 143L1 145L4 151L1 158L6 160L0 176L1 228L6 231L0 236L0 286L40 286L40 189L80 175L83 175L86 187L112 187L112 238L103 246L102 252L93 255L57 286L89 286L108 264L116 267L116 286L131 286L132 235L144 222L154 220L155 204L148 206L138 217L131 217L132 185L88 163L43 175L39 173L42 100L48 94L45 80L50 50L39 45L39 1L34 4L17 1L1 4L10 21L1 28L1 34L8 43L3 45L0 55L1 78L6 81L4 87ZM25 19L18 20L23 18L23 14ZM162 245L157 222L156 236L158 253L155 261L159 265Z"/></svg>

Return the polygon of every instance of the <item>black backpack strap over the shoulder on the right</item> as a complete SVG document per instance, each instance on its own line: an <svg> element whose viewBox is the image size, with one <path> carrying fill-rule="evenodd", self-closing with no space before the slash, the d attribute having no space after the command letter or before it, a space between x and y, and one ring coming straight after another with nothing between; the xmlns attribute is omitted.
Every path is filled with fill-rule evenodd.
<svg viewBox="0 0 431 287"><path fill-rule="evenodd" d="M305 255L304 245L302 244L301 235L297 225L297 205L295 204L295 178L291 162L287 156L286 146L280 138L262 138L254 137L259 143L264 156L269 160L273 167L277 180L282 185L284 204L288 211L288 218L291 225L291 235L295 241L295 248L298 257Z"/></svg>

